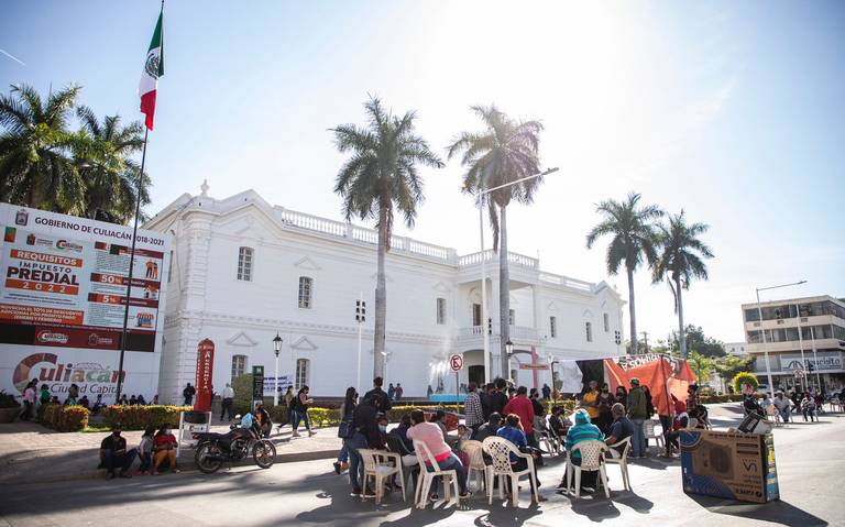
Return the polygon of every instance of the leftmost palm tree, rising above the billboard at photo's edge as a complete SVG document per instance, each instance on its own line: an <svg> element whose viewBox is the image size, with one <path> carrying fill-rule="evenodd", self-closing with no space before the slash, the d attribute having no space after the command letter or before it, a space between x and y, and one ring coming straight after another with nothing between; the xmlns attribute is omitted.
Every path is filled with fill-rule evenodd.
<svg viewBox="0 0 845 527"><path fill-rule="evenodd" d="M50 94L46 102L28 85L0 95L0 200L57 212L80 213L84 185L68 157L67 121L78 86Z"/></svg>

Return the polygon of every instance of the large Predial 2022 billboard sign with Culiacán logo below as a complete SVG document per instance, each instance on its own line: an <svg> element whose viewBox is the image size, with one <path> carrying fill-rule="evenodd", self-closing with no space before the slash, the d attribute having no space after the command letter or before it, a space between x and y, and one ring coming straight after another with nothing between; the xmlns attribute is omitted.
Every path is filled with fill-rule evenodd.
<svg viewBox="0 0 845 527"><path fill-rule="evenodd" d="M132 228L0 204L0 388L25 378L59 400L70 384L114 393ZM169 237L139 230L129 300L123 392L158 385ZM113 400L113 397L112 397Z"/></svg>

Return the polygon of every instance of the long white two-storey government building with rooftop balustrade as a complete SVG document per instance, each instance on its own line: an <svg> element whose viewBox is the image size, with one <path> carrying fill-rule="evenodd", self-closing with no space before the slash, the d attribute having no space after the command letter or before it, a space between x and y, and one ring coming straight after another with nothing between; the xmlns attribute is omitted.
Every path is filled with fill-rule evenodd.
<svg viewBox="0 0 845 527"><path fill-rule="evenodd" d="M279 376L307 384L317 396L341 396L356 385L355 301L366 301L361 385L373 372L376 231L272 206L254 190L226 199L183 195L145 229L173 235L160 394L178 400L194 382L197 343L216 344L217 392L251 366L274 375L273 338L283 342ZM487 315L493 376L501 375L497 256L487 251ZM537 362L624 353L624 300L604 282L540 270L539 261L511 253L512 376L534 385ZM448 356L462 353L460 383L484 378L481 253L394 237L387 255L387 364L385 387L400 383L405 397L428 386L453 393ZM539 385L551 385L540 371Z"/></svg>

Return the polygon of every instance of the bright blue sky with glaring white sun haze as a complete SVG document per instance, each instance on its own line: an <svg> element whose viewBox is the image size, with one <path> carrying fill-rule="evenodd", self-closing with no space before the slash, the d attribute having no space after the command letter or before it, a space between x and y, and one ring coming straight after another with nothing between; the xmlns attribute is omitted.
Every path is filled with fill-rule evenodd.
<svg viewBox="0 0 845 527"><path fill-rule="evenodd" d="M100 116L140 119L138 81L157 1L0 7L0 89L84 87ZM684 292L688 323L742 341L740 304L845 296L845 3L171 1L165 75L146 167L150 213L184 193L267 201L341 219L330 128L364 123L377 95L446 157L495 103L545 125L548 176L508 208L508 244L545 271L607 281L597 202L629 191L704 222L710 281ZM479 250L462 167L421 171L425 204L397 234ZM489 235L487 230L487 235ZM490 244L490 238L487 238ZM487 245L490 246L490 245ZM639 331L678 327L666 284L636 274ZM627 312L625 314L626 325ZM626 327L627 329L627 327ZM627 331L626 331L627 332Z"/></svg>

